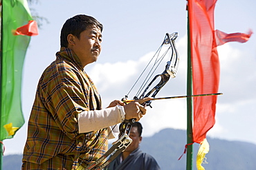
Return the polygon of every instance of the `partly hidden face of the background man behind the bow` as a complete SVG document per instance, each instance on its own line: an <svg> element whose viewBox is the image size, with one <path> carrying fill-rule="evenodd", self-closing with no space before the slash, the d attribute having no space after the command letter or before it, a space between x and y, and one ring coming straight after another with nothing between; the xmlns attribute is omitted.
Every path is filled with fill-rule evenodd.
<svg viewBox="0 0 256 170"><path fill-rule="evenodd" d="M138 134L138 127L131 127L131 131L130 131L129 137L132 139L132 142L127 147L127 149L125 149L124 152L131 153L132 151L134 151L135 149L138 148L138 146L139 146L141 140L143 139L143 137L139 136L139 134Z"/></svg>

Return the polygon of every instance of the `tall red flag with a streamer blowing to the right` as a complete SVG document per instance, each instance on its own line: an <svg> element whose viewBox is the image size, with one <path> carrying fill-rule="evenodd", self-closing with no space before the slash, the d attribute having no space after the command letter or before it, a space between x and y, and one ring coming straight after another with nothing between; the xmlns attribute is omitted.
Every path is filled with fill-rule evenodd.
<svg viewBox="0 0 256 170"><path fill-rule="evenodd" d="M219 56L217 45L230 41L244 43L249 34L214 31L214 7L217 0L188 0L192 58L193 94L217 93ZM194 98L193 141L202 142L215 123L217 96Z"/></svg>

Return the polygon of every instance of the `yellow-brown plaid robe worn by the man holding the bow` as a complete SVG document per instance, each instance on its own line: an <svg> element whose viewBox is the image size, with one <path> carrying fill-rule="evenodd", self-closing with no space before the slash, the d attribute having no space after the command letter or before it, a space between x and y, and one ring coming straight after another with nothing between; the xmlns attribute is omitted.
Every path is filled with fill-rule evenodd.
<svg viewBox="0 0 256 170"><path fill-rule="evenodd" d="M91 162L107 150L106 129L78 134L77 115L102 109L101 98L75 53L62 47L56 57L37 86L23 161L41 164L57 154L72 156L82 142L80 159Z"/></svg>

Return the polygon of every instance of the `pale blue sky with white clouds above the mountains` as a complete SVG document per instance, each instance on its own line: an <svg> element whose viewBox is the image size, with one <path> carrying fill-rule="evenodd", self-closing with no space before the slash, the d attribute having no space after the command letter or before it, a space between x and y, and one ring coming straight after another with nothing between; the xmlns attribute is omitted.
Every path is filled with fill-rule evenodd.
<svg viewBox="0 0 256 170"><path fill-rule="evenodd" d="M215 29L226 33L256 32L255 6L256 1L252 0L217 1ZM43 23L39 35L31 38L28 47L21 94L26 123L14 138L3 140L5 155L22 153L38 80L60 50L63 23L76 14L90 15L104 25L98 61L84 68L98 87L103 107L129 92L163 42L166 32L179 32L176 47L180 63L176 78L170 79L157 96L183 96L187 93L188 16L185 0L39 0L30 8L45 17L48 23ZM256 36L253 34L246 43L221 45L218 52L221 65L219 92L223 95L218 96L216 123L208 131L208 136L256 145ZM163 70L161 67L156 74ZM131 92L129 98L133 95L135 92ZM169 127L186 129L186 110L185 98L152 102L152 108L147 108L147 114L140 120L143 136L152 136Z"/></svg>

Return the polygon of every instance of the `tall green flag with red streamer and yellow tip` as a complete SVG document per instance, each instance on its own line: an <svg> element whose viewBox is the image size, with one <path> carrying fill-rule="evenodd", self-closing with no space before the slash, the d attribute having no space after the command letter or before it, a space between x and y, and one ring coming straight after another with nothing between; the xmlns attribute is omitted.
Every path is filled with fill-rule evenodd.
<svg viewBox="0 0 256 170"><path fill-rule="evenodd" d="M1 0L0 140L12 138L24 125L21 78L30 36L37 34L26 0Z"/></svg>

